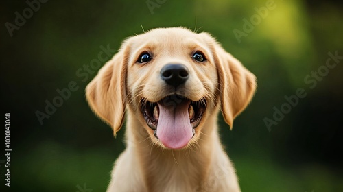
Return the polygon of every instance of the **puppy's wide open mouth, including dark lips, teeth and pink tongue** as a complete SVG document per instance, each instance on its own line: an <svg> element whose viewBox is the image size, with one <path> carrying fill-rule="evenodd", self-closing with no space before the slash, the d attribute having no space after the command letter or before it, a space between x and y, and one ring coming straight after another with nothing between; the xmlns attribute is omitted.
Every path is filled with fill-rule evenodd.
<svg viewBox="0 0 343 192"><path fill-rule="evenodd" d="M191 101L180 95L170 95L158 102L142 101L141 112L154 135L169 148L187 145L194 136L204 110L205 99Z"/></svg>

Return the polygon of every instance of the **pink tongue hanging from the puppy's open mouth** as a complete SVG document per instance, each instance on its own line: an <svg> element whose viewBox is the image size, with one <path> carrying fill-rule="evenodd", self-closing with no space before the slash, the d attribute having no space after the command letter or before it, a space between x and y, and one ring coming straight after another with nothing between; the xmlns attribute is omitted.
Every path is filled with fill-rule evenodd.
<svg viewBox="0 0 343 192"><path fill-rule="evenodd" d="M158 104L159 116L157 124L158 139L171 149L185 147L193 137L188 108L190 101L182 101L174 106Z"/></svg>

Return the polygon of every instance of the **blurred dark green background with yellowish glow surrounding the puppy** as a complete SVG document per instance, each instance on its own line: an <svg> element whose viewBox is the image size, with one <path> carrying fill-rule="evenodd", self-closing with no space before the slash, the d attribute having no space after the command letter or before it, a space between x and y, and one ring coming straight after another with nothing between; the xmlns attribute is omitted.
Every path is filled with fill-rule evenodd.
<svg viewBox="0 0 343 192"><path fill-rule="evenodd" d="M11 187L5 187L1 155L1 191L106 190L124 148L123 130L115 139L91 112L84 88L95 73L83 79L76 71L96 59L101 46L117 50L123 39L142 33L141 25L210 32L257 76L257 93L232 131L220 117L222 143L242 191L343 191L343 59L324 67L329 53L343 56L342 4L51 0L32 16L27 10L28 19L11 37L5 23L15 25L16 12L23 15L29 5L1 1L1 110L12 118ZM249 28L246 20L255 24ZM304 80L318 69L324 75L309 77L311 84ZM45 112L45 102L71 81L78 90L41 125L35 112ZM298 88L306 97L268 130L263 119L273 119ZM4 145L4 130L0 134Z"/></svg>

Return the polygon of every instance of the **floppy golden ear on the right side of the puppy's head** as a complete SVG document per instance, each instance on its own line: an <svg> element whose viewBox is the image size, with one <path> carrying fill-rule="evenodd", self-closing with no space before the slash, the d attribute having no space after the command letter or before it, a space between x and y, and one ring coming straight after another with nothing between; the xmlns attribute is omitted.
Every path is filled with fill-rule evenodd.
<svg viewBox="0 0 343 192"><path fill-rule="evenodd" d="M222 114L230 129L233 119L248 106L256 90L256 77L239 60L216 46Z"/></svg>

